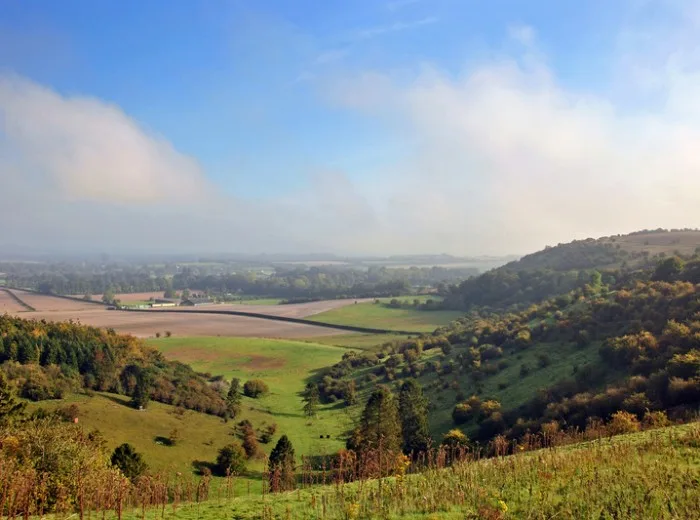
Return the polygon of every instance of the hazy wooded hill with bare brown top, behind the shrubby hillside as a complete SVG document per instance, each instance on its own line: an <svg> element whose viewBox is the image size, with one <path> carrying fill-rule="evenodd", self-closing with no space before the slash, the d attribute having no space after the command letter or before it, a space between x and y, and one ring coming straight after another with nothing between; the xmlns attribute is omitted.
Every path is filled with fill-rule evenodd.
<svg viewBox="0 0 700 520"><path fill-rule="evenodd" d="M610 278L655 266L667 256L700 253L700 230L639 231L547 247L453 286L445 305L453 309L526 306L589 283L594 271Z"/></svg>

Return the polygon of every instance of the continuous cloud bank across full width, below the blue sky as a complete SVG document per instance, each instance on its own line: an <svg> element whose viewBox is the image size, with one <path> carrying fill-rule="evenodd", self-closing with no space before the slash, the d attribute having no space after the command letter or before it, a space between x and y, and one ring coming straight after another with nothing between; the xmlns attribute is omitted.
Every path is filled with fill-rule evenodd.
<svg viewBox="0 0 700 520"><path fill-rule="evenodd" d="M258 201L221 195L117 106L0 76L0 218L12 223L0 245L506 254L700 226L700 17L683 19L652 36L623 28L602 93L567 86L523 25L509 30L520 54L459 74L424 64L318 81L334 109L408 151L371 180L321 167L303 191Z"/></svg>

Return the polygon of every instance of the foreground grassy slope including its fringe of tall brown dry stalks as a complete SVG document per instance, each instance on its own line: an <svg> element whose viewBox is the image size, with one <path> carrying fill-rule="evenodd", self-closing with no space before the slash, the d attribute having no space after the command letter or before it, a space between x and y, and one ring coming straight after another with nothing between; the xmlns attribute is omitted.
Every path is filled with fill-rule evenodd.
<svg viewBox="0 0 700 520"><path fill-rule="evenodd" d="M285 493L235 497L234 477L212 495L208 477L152 476L130 484L112 476L77 485L74 496L66 499L74 505L73 517L134 520L697 518L698 423L575 445L554 447L554 439L540 442L550 447L527 452L528 446L515 445L513 455L505 455L512 445L495 442L488 447L490 458L478 450L441 450L414 463L385 453L377 454L381 460L351 454L332 463L306 460L297 489ZM366 468L377 463L379 474L389 476L368 477ZM41 476L14 479L6 469L0 465L4 514L41 515L32 502L41 494ZM359 480L349 482L352 478Z"/></svg>

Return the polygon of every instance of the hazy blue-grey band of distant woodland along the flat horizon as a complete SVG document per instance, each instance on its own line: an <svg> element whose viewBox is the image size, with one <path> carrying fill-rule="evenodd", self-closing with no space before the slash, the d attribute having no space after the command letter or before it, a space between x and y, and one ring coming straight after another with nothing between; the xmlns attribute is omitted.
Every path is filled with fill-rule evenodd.
<svg viewBox="0 0 700 520"><path fill-rule="evenodd" d="M97 295L190 289L220 298L236 295L278 298L361 298L401 296L416 287L441 287L478 274L476 268L371 266L276 267L226 272L204 267L114 265L97 268L79 265L3 264L6 283L46 294ZM230 271L230 272L229 272Z"/></svg>

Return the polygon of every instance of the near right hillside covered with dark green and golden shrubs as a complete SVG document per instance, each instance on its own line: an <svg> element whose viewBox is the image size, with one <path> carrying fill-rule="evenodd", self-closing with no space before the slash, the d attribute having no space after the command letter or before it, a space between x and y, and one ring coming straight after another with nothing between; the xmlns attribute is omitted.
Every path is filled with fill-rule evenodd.
<svg viewBox="0 0 700 520"><path fill-rule="evenodd" d="M517 312L473 311L432 335L347 355L321 391L342 398L349 380L364 394L413 377L430 399L434 435L457 425L482 442L552 421L583 430L618 410L684 418L700 405L699 317L700 255L669 257L627 278L592 276Z"/></svg>

